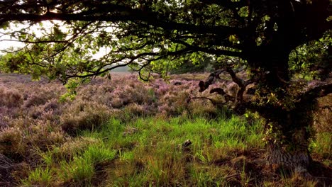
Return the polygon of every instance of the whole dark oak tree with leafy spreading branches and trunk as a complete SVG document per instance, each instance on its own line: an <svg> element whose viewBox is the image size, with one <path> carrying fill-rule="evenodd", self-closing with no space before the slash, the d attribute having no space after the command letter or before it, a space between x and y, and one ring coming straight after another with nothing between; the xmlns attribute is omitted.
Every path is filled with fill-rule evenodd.
<svg viewBox="0 0 332 187"><path fill-rule="evenodd" d="M330 94L332 85L309 88L292 79L331 81L331 20L329 0L1 1L1 34L24 46L4 55L0 68L67 82L129 65L148 79L210 58L240 87L236 111L258 111L274 124L273 140L282 133L283 142L306 145L297 135L312 123L314 99ZM248 67L249 79L236 76L240 66ZM202 81L201 91L220 73ZM256 97L243 101L249 84L258 85ZM306 154L296 153L270 159L306 163Z"/></svg>

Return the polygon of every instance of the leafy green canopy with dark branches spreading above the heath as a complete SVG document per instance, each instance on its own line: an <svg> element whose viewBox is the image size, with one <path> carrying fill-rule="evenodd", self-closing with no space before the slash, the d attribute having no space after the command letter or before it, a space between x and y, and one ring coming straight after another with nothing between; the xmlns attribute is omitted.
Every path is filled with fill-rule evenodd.
<svg viewBox="0 0 332 187"><path fill-rule="evenodd" d="M181 62L175 58L206 54L240 57L269 71L280 63L273 56L288 58L322 37L331 26L328 6L326 0L3 1L0 24L25 23L3 33L26 45L9 68L37 77L89 77L118 62L157 71ZM99 50L104 56L96 59Z"/></svg>

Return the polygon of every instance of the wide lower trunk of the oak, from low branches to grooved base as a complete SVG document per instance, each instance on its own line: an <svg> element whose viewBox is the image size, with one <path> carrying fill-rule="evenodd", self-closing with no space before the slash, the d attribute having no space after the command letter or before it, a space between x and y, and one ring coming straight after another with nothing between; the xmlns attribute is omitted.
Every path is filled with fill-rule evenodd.
<svg viewBox="0 0 332 187"><path fill-rule="evenodd" d="M269 132L267 162L273 168L310 176L307 168L311 163L309 137L313 123L312 106L313 102L309 102L305 106L295 105L291 111L274 108L263 112L265 118L270 120L266 129Z"/></svg>

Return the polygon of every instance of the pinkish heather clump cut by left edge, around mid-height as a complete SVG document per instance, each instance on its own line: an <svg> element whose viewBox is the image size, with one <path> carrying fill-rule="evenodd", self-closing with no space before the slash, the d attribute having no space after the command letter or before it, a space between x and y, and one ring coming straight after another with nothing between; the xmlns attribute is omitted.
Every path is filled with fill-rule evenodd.
<svg viewBox="0 0 332 187"><path fill-rule="evenodd" d="M23 96L16 89L0 86L0 107L19 107L23 103Z"/></svg>

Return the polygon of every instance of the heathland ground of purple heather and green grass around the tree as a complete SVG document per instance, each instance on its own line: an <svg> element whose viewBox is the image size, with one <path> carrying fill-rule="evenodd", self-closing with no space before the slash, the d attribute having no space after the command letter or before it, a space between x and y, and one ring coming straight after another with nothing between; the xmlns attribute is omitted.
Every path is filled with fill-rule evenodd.
<svg viewBox="0 0 332 187"><path fill-rule="evenodd" d="M206 74L138 81L135 74L65 86L0 74L0 186L330 186L331 94L321 98L312 177L265 162L265 122L199 92ZM222 87L232 95L236 84Z"/></svg>

